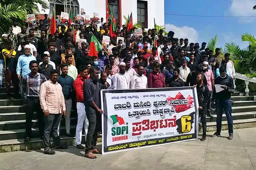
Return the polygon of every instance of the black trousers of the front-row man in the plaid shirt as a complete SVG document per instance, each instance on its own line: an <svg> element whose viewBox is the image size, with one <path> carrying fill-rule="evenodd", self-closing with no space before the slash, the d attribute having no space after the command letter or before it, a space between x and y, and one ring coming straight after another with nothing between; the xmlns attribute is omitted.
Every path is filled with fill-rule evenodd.
<svg viewBox="0 0 256 170"><path fill-rule="evenodd" d="M34 112L37 114L40 137L44 135L44 118L39 97L27 97L26 101L26 136L31 137L32 119Z"/></svg>

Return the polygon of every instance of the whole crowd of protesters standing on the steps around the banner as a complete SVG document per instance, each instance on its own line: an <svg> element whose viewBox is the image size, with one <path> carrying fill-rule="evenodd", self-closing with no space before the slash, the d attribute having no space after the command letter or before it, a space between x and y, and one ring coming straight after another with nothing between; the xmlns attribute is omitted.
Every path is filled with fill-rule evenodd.
<svg viewBox="0 0 256 170"><path fill-rule="evenodd" d="M47 20L47 15L45 15ZM76 146L81 145L82 129L85 131L85 156L96 158L97 134L101 131L100 90L140 89L195 86L198 92L199 115L203 128L202 141L206 140L206 116L213 117L211 111L216 106L217 137L221 132L222 110L225 110L229 139L233 139L231 116L231 93L234 92L234 64L230 54L221 54L206 48L206 43L189 42L187 38L175 38L170 31L143 29L143 41L134 42L134 29L116 26L116 33L110 38L111 54L101 50L98 56L89 56L92 36L99 42L109 36L109 25L83 25L76 21L76 35L72 30L59 25L57 31L48 34L48 24L40 20L36 28L29 28L28 22L19 27L17 22L2 34L0 43L0 87L5 74L7 99L22 97L26 107L25 142L31 138L33 113L36 111L40 136L44 140L46 154L54 154L50 148L50 135L56 148L67 148L60 142L60 122L65 119L66 135L70 131L71 109L77 111L75 131ZM86 43L75 43L86 39ZM117 42L117 37L124 41ZM157 44L154 43L156 40ZM213 55L214 54L214 55ZM224 90L215 92L214 85L223 85ZM10 87L14 87L14 96ZM19 94L21 91L21 96ZM14 97L14 98L13 98ZM74 107L74 104L76 106ZM214 103L216 105L214 105ZM63 116L62 116L63 115Z"/></svg>

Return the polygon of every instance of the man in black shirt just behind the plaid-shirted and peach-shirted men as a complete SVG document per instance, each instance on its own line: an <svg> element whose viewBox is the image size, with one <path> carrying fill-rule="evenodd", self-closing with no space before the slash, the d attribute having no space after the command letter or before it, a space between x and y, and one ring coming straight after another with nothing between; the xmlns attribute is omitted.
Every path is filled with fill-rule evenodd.
<svg viewBox="0 0 256 170"><path fill-rule="evenodd" d="M43 54L43 56L41 57L42 59L42 63L39 64L38 66L38 72L43 74L47 80L50 79L50 73L51 71L53 71L53 66L48 64L48 55L47 54Z"/></svg>

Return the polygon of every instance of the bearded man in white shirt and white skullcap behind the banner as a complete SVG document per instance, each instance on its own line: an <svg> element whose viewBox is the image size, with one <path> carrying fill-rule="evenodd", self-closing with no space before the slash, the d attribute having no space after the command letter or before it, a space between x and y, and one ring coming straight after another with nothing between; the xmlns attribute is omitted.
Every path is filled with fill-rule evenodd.
<svg viewBox="0 0 256 170"><path fill-rule="evenodd" d="M114 89L129 89L130 86L130 76L125 72L125 63L120 62L119 72L113 76L113 87Z"/></svg>

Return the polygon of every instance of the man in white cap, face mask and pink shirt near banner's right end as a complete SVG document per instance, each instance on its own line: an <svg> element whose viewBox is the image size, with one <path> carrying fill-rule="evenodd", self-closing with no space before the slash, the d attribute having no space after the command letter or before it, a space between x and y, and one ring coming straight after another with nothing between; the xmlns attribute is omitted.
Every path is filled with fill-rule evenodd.
<svg viewBox="0 0 256 170"><path fill-rule="evenodd" d="M212 90L214 87L214 75L212 73L211 69L208 69L208 61L204 61L202 66L203 66L203 70L202 73L205 75L205 78L207 80L207 87L209 89L209 101L207 103L207 116L209 117L213 117L211 114L211 96L212 96Z"/></svg>

